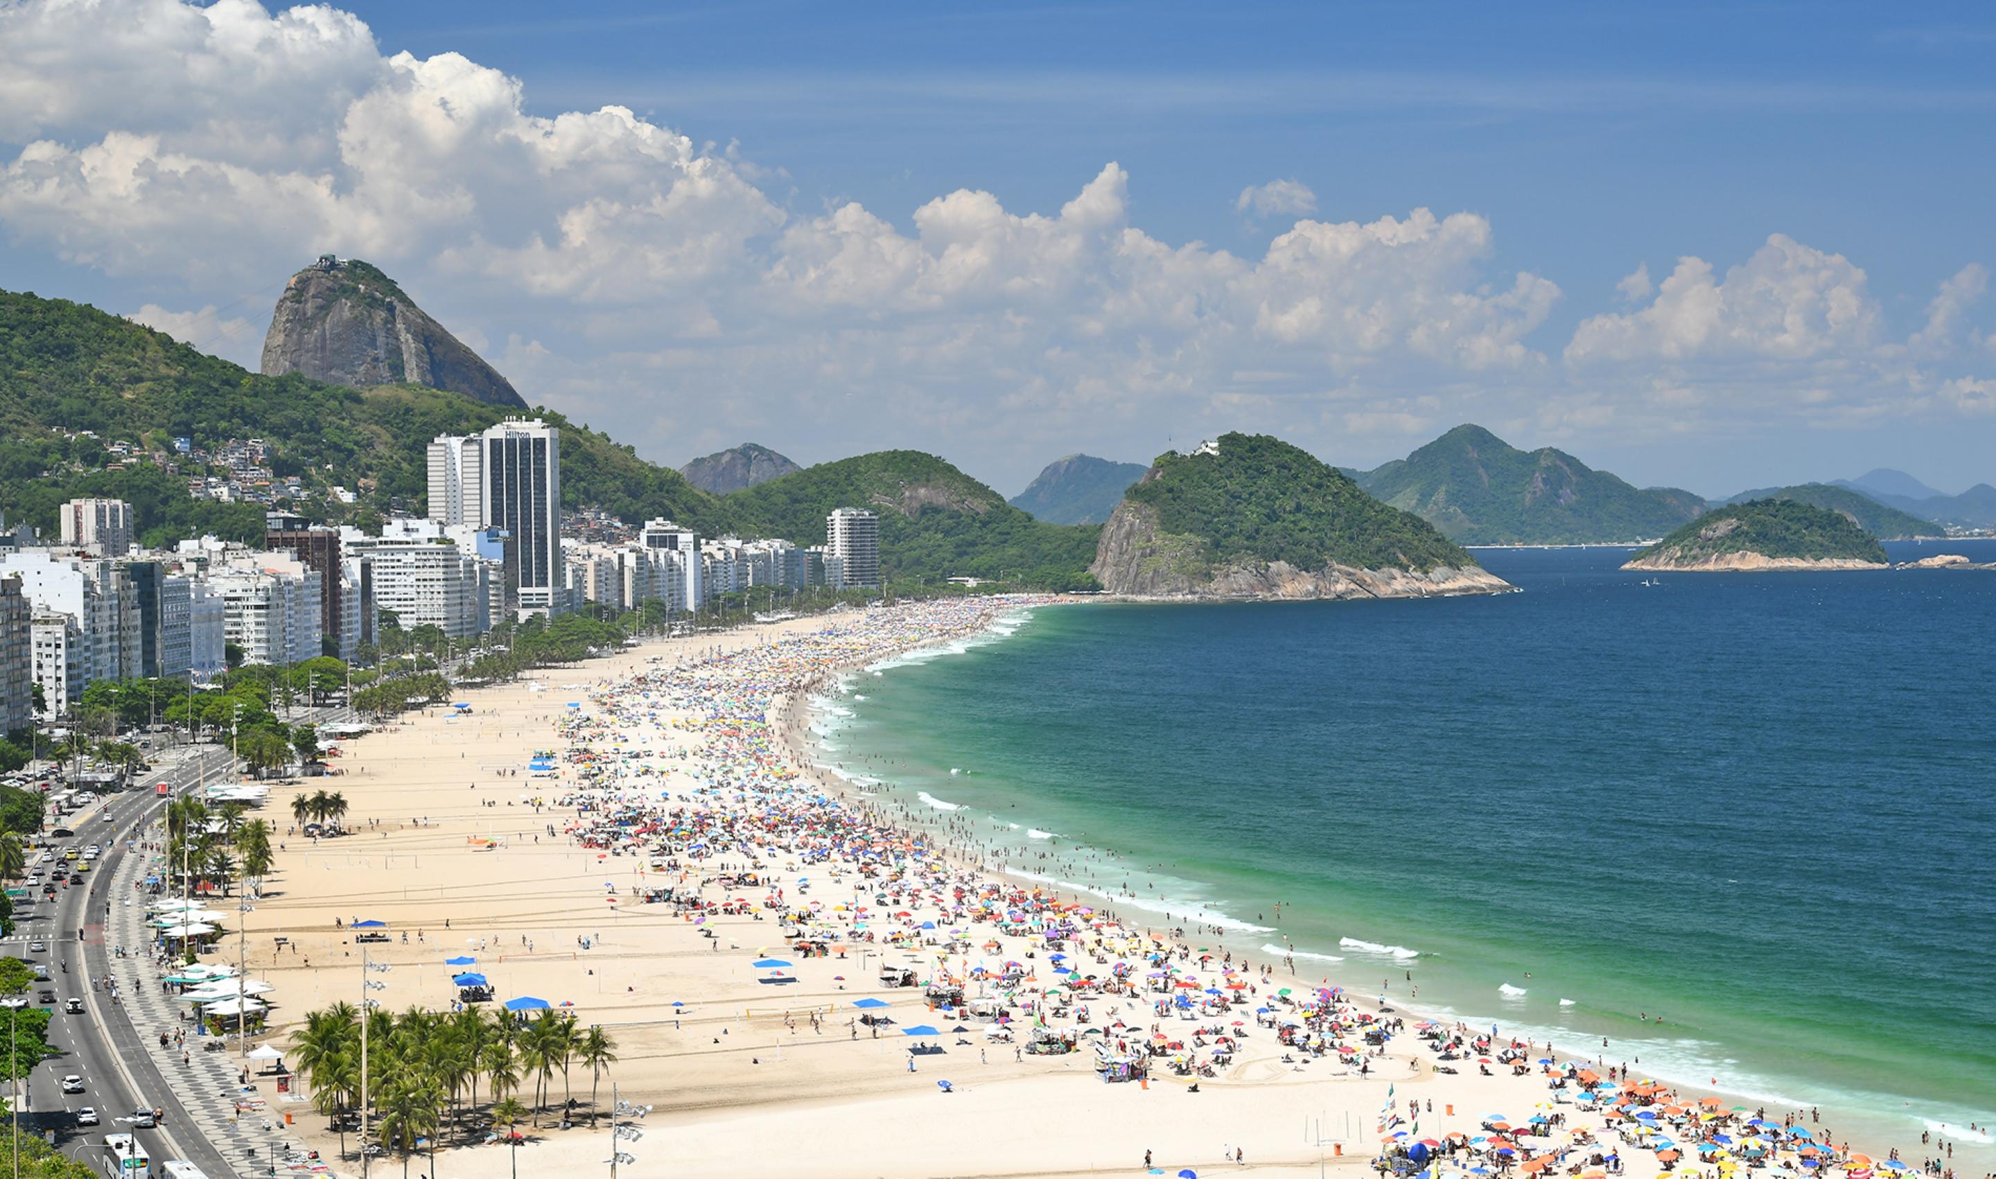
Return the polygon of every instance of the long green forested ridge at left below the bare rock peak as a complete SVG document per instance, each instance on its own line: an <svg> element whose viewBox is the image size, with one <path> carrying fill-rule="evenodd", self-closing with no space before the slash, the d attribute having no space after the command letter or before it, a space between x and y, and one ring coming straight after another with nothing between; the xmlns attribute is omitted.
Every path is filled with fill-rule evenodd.
<svg viewBox="0 0 1996 1179"><path fill-rule="evenodd" d="M595 503L627 521L713 515L713 497L677 471L559 413L535 415L561 427L563 505ZM44 531L54 529L62 501L110 495L132 503L146 543L200 531L261 537L261 505L188 497L188 477L204 471L186 459L178 475L152 463L106 469L104 443L170 453L176 435L200 449L265 439L275 449L271 471L301 477L313 493L287 511L367 525L393 507L423 509L431 437L481 431L505 417L499 407L413 385L355 391L297 375L263 377L96 307L0 291L0 503L10 505L10 519ZM58 431L98 437L64 439ZM355 491L357 503L325 495L335 483Z"/></svg>

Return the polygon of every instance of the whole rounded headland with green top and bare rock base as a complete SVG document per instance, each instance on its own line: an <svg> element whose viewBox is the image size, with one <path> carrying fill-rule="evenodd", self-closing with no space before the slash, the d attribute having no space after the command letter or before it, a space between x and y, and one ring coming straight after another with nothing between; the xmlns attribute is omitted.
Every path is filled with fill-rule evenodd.
<svg viewBox="0 0 1996 1179"><path fill-rule="evenodd" d="M1222 435L1168 453L1116 505L1090 569L1112 594L1419 598L1513 587L1433 525L1307 451Z"/></svg>

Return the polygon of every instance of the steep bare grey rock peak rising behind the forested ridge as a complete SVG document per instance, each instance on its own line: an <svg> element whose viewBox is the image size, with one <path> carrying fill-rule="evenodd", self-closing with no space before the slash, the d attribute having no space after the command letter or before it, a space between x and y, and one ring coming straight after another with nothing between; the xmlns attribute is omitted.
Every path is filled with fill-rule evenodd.
<svg viewBox="0 0 1996 1179"><path fill-rule="evenodd" d="M525 409L513 385L365 261L309 265L285 283L263 337L263 373L333 385L427 385Z"/></svg>

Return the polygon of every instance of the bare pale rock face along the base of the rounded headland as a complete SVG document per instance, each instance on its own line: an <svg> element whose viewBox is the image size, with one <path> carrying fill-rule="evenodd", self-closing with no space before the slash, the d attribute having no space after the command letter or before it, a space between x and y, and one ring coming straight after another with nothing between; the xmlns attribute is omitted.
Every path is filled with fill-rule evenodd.
<svg viewBox="0 0 1996 1179"><path fill-rule="evenodd" d="M1477 567L1353 569L1325 563L1236 561L1214 567L1206 541L1158 531L1150 505L1124 501L1102 527L1090 573L1114 594L1146 598L1425 598L1493 594L1511 585Z"/></svg>

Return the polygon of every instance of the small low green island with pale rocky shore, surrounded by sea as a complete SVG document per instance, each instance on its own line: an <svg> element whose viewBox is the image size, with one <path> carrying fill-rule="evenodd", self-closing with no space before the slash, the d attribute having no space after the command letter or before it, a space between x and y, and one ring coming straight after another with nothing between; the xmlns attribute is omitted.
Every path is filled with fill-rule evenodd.
<svg viewBox="0 0 1996 1179"><path fill-rule="evenodd" d="M1758 573L1888 565L1878 539L1848 515L1792 499L1756 499L1705 513L1631 557L1623 569Z"/></svg>

